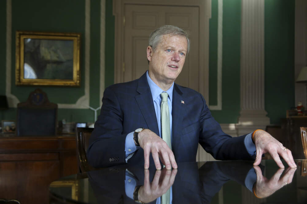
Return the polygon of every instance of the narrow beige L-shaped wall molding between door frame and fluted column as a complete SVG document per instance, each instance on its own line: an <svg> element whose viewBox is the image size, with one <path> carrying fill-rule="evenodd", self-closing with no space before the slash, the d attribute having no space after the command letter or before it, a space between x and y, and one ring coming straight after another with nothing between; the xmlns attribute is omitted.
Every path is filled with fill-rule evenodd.
<svg viewBox="0 0 307 204"><path fill-rule="evenodd" d="M222 110L222 68L223 68L223 0L218 0L217 23L217 105L210 110ZM210 100L210 98L209 98Z"/></svg>

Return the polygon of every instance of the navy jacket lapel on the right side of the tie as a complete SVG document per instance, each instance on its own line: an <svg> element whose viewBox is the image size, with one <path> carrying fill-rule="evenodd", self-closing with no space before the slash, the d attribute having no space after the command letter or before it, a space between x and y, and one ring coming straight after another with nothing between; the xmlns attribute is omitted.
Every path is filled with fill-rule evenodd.
<svg viewBox="0 0 307 204"><path fill-rule="evenodd" d="M184 102L184 94L178 87L178 85L174 84L173 89L173 102L172 102L172 129L173 129L173 138L172 138L172 150L175 154L176 148L178 148L178 144L180 142L180 137L182 135L182 120L185 113L185 104ZM175 155L176 157L176 155Z"/></svg>

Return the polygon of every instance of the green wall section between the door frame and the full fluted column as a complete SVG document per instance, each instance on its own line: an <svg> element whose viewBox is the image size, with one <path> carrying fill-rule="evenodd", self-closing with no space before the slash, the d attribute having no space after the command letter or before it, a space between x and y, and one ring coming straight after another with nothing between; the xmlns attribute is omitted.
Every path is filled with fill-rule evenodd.
<svg viewBox="0 0 307 204"><path fill-rule="evenodd" d="M212 0L209 46L209 105L216 105L217 0ZM214 33L214 34L212 34ZM241 0L223 1L222 110L212 110L219 123L237 123L240 112ZM213 74L212 74L213 72ZM212 84L213 83L213 84ZM212 85L212 86L211 86ZM212 102L213 101L213 102Z"/></svg>

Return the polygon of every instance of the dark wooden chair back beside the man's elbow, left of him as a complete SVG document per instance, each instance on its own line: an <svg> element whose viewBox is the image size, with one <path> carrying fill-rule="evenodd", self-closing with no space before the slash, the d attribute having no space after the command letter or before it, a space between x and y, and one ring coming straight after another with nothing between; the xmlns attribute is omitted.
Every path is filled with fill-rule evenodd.
<svg viewBox="0 0 307 204"><path fill-rule="evenodd" d="M89 139L94 128L77 128L76 141L77 141L77 159L79 164L79 173L95 170L87 163L86 151L89 146Z"/></svg>

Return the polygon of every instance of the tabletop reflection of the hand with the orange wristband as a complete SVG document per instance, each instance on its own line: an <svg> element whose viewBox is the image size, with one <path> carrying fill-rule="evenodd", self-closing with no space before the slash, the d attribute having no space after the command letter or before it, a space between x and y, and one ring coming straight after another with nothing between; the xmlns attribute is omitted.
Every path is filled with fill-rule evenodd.
<svg viewBox="0 0 307 204"><path fill-rule="evenodd" d="M272 176L272 178L269 180L262 175L259 166L254 166L254 169L257 174L257 181L254 184L253 191L255 196L258 198L268 197L278 189L290 184L296 171L296 168L290 167L288 167L286 170L278 169L274 176ZM282 175L284 171L285 173Z"/></svg>

